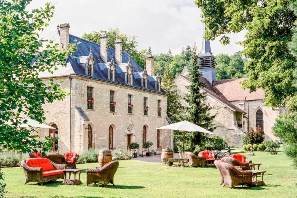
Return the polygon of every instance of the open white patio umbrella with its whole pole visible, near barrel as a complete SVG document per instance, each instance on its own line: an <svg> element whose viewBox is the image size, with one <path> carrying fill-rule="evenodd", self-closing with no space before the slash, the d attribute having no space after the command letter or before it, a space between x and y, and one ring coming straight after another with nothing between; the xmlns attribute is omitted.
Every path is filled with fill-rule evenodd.
<svg viewBox="0 0 297 198"><path fill-rule="evenodd" d="M184 157L184 145L185 145L185 132L202 132L202 133L207 133L207 134L214 134L204 128L202 128L201 126L198 126L196 124L190 123L188 121L181 121L181 122L177 122L174 124L169 124L166 126L161 126L157 129L172 129L172 130L176 130L176 131L183 131L184 133L184 139L183 139L183 154L182 154L182 158Z"/></svg>

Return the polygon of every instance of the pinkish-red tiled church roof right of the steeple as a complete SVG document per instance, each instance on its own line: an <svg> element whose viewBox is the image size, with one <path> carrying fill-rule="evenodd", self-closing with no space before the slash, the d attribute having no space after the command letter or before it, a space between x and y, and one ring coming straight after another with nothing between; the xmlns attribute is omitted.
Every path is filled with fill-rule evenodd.
<svg viewBox="0 0 297 198"><path fill-rule="evenodd" d="M228 101L263 100L265 98L265 93L261 88L252 93L249 89L243 90L239 83L244 80L246 78L214 80L213 87L217 94Z"/></svg>

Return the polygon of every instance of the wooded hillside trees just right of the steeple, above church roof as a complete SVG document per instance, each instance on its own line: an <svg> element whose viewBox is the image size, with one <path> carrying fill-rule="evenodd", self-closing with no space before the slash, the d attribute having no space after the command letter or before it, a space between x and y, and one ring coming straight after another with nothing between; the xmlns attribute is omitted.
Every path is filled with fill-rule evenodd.
<svg viewBox="0 0 297 198"><path fill-rule="evenodd" d="M233 79L246 77L247 71L244 71L244 59L235 53L232 56L228 54L219 54L216 56L216 78L217 80Z"/></svg>

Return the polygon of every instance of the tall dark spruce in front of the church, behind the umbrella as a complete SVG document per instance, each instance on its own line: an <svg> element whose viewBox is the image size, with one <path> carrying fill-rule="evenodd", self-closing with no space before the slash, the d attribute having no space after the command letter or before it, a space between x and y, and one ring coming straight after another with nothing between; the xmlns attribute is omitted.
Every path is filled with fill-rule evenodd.
<svg viewBox="0 0 297 198"><path fill-rule="evenodd" d="M200 82L202 74L199 71L196 51L197 47L194 45L192 48L192 65L189 66L191 85L187 87L189 94L185 94L184 98L189 104L187 108L187 120L212 132L215 129L212 121L216 117L216 114L210 114L211 107L206 103L206 94L200 89L205 85ZM189 149L195 152L203 147L207 140L206 134L200 132L187 133L187 136Z"/></svg>

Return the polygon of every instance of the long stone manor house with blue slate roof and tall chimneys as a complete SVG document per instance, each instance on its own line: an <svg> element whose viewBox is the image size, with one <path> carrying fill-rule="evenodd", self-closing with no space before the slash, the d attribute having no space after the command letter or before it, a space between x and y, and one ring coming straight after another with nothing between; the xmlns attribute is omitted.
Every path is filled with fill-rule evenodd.
<svg viewBox="0 0 297 198"><path fill-rule="evenodd" d="M40 129L39 136L58 136L59 148L82 152L89 148L124 148L129 143L153 142L153 149L173 148L171 130L157 130L170 122L166 116L167 94L161 89L160 75L154 75L154 57L146 56L146 68L127 53L122 41L116 49L108 46L108 35L96 44L69 34L69 24L61 24L56 37L60 49L79 42L75 57L67 66L40 73L45 83L61 82L70 93L63 101L44 104L45 123L56 129Z"/></svg>

